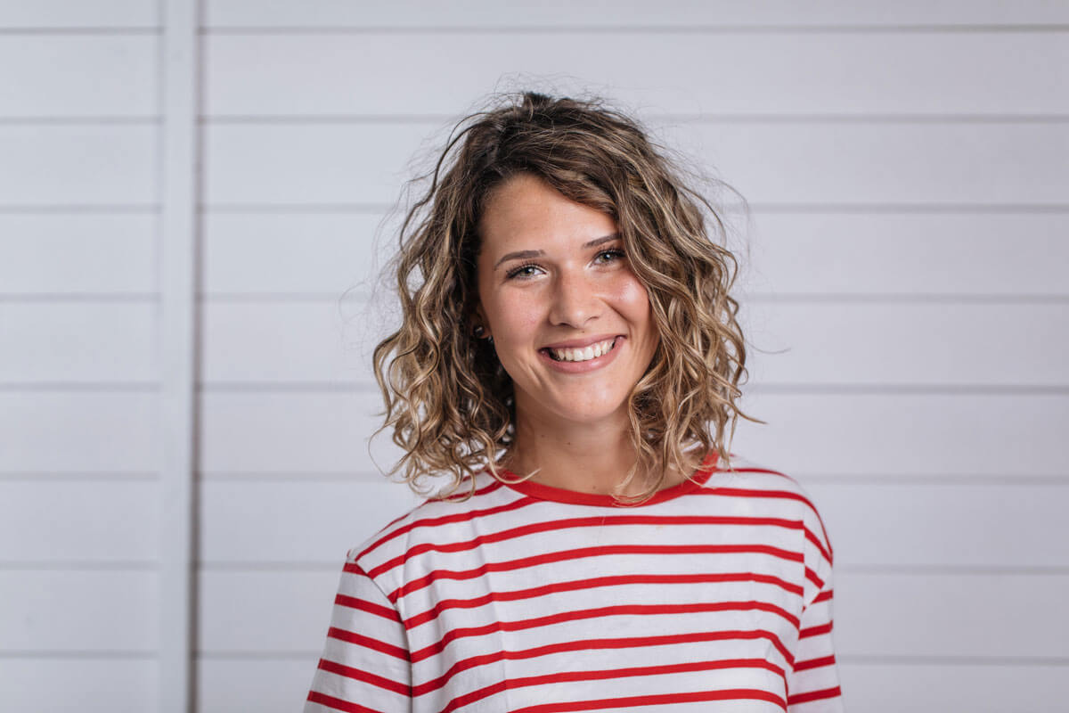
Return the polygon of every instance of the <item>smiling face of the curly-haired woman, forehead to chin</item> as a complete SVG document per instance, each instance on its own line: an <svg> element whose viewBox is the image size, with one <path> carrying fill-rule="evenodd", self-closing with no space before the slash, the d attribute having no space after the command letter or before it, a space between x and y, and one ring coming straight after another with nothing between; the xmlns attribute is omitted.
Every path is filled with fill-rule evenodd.
<svg viewBox="0 0 1069 713"><path fill-rule="evenodd" d="M518 424L626 427L659 339L616 222L521 174L492 193L479 228L478 314Z"/></svg>

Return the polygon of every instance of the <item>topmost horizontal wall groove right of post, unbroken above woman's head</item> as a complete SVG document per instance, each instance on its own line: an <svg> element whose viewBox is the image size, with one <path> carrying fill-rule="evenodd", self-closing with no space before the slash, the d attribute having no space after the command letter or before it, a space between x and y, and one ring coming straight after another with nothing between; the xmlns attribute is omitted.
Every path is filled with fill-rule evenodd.
<svg viewBox="0 0 1069 713"><path fill-rule="evenodd" d="M850 24L850 25L731 25L731 24L680 24L680 25L331 25L331 26L238 26L208 25L200 28L207 35L246 34L815 34L815 33L1057 33L1069 31L1069 25L1062 24L946 24L907 22L894 25Z"/></svg>

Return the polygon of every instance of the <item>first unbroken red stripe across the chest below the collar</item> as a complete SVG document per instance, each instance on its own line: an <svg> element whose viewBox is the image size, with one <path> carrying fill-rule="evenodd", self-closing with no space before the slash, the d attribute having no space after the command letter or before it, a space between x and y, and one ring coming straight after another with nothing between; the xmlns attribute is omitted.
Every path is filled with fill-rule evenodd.
<svg viewBox="0 0 1069 713"><path fill-rule="evenodd" d="M435 544L427 542L409 547L403 555L398 555L388 559L382 564L368 570L368 576L374 578L378 575L401 567L413 557L417 557L427 552L456 553L475 549L476 547L493 542L503 542L513 538L522 538L528 534L549 532L554 530L564 530L573 527L603 527L609 525L769 525L774 527L786 527L789 529L803 529L800 521L784 520L781 517L729 517L719 515L591 515L588 517L570 517L567 520L552 520L543 523L529 523L499 532L480 534L470 540L451 542L448 544Z"/></svg>

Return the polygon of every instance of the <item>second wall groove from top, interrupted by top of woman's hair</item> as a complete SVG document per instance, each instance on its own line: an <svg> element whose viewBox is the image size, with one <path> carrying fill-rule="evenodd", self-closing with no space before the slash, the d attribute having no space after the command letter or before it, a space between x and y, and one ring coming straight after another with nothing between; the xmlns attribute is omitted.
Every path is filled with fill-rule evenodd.
<svg viewBox="0 0 1069 713"><path fill-rule="evenodd" d="M462 114L202 114L201 124L275 125L275 124L444 124ZM646 121L686 124L1065 124L1066 113L691 113L648 112Z"/></svg>

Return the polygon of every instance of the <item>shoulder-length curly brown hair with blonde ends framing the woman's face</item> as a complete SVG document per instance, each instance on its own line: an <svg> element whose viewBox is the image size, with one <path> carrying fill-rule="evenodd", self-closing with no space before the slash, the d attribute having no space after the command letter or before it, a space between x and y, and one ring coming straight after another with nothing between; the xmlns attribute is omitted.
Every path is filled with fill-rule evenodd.
<svg viewBox="0 0 1069 713"><path fill-rule="evenodd" d="M494 189L521 173L610 216L649 295L660 344L630 394L636 463L618 492L635 478L646 489L617 501L645 501L669 468L691 474L710 450L727 463L738 418L757 419L738 405L746 376L729 294L738 261L711 239L726 236L724 220L634 119L599 99L524 92L458 123L433 170L412 184L429 187L405 214L391 263L402 325L373 354L386 404L376 433L392 428L404 451L390 475L403 471L427 494L424 477L448 474L439 497L465 480L474 491L467 476L482 469L505 478L496 461L514 441L512 381L467 325L480 218Z"/></svg>

